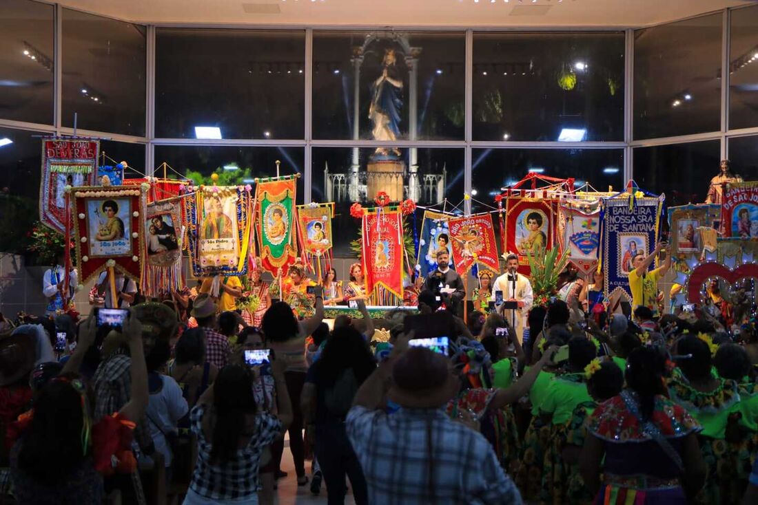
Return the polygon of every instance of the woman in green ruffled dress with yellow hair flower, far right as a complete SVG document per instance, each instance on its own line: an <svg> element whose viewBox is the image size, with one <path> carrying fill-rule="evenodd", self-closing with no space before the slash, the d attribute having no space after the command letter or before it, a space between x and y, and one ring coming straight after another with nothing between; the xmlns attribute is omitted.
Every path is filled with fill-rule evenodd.
<svg viewBox="0 0 758 505"><path fill-rule="evenodd" d="M747 488L758 413L741 408L738 383L713 373L718 346L710 335L684 335L676 344L678 369L669 379L669 395L700 425L700 451L708 468L697 503L738 503Z"/></svg>

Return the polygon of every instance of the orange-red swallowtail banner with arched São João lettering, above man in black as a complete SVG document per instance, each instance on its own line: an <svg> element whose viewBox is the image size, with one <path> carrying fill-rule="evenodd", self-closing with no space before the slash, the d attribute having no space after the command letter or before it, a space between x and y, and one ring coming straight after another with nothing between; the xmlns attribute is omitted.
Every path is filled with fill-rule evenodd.
<svg viewBox="0 0 758 505"><path fill-rule="evenodd" d="M464 275L475 264L500 272L492 214L455 217L447 224L459 274Z"/></svg>

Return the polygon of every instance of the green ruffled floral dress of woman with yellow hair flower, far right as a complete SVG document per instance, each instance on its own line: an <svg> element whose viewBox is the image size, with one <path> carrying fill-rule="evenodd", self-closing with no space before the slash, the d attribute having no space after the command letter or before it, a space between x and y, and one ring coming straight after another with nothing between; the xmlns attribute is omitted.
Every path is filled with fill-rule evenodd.
<svg viewBox="0 0 758 505"><path fill-rule="evenodd" d="M748 398L741 399L735 381L716 380L713 391L697 391L676 372L669 394L703 425L698 441L708 473L696 503L740 503L755 459L756 419L741 409Z"/></svg>

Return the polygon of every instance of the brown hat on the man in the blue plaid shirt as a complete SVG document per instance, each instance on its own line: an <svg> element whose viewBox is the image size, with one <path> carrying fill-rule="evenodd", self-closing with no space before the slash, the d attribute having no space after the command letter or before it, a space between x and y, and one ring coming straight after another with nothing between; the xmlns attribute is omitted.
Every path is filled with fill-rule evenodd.
<svg viewBox="0 0 758 505"><path fill-rule="evenodd" d="M458 393L460 382L449 371L449 360L425 348L410 348L395 362L390 400L402 407L431 409Z"/></svg>

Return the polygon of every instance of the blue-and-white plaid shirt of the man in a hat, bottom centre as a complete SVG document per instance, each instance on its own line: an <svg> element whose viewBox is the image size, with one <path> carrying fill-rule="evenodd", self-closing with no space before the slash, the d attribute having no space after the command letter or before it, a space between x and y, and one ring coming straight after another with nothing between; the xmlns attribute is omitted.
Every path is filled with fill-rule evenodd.
<svg viewBox="0 0 758 505"><path fill-rule="evenodd" d="M369 503L522 503L487 439L442 410L356 406L346 428Z"/></svg>

